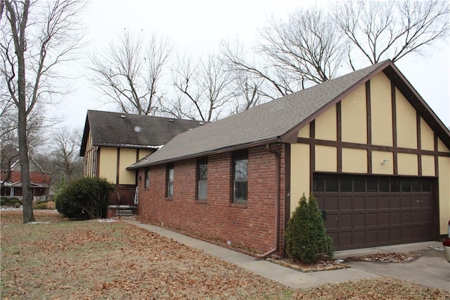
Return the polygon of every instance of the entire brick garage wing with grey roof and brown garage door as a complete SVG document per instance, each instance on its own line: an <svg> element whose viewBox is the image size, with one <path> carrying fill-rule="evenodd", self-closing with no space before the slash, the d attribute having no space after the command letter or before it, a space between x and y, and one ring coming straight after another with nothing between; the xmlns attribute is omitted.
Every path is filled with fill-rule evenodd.
<svg viewBox="0 0 450 300"><path fill-rule="evenodd" d="M302 194L336 250L437 240L450 219L450 132L391 61L174 137L139 170L156 223L284 253Z"/></svg>

